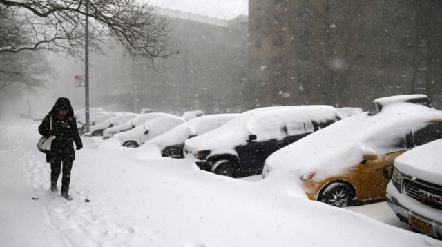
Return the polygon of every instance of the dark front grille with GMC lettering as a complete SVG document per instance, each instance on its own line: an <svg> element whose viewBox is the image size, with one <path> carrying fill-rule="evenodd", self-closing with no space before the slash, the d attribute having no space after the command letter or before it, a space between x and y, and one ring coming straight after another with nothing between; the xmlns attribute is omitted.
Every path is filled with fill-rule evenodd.
<svg viewBox="0 0 442 247"><path fill-rule="evenodd" d="M442 209L442 186L413 179L404 179L403 186L409 197L433 208Z"/></svg>

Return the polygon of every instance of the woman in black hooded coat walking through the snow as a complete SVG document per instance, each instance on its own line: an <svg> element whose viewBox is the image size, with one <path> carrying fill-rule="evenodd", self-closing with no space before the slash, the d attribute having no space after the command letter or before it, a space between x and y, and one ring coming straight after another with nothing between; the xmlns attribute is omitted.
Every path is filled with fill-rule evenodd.
<svg viewBox="0 0 442 247"><path fill-rule="evenodd" d="M52 118L52 130L50 121ZM75 150L83 148L81 138L77 130L77 122L74 118L74 110L67 98L59 98L48 115L39 126L41 135L55 135L52 140L50 151L46 152L46 162L50 163L50 190L57 192L57 181L63 166L61 176L61 196L66 200L72 200L68 195L70 183L70 170L75 160Z"/></svg>

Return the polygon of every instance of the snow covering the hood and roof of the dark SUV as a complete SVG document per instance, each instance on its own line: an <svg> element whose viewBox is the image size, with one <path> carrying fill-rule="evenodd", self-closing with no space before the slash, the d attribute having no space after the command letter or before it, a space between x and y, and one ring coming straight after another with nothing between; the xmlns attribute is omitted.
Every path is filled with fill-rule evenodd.
<svg viewBox="0 0 442 247"><path fill-rule="evenodd" d="M249 135L256 135L256 141L283 138L282 128L289 121L323 121L339 116L332 106L277 106L256 108L242 113L220 128L204 135L186 140L186 146L193 150L234 152L231 148L245 144ZM227 148L227 149L225 149Z"/></svg>

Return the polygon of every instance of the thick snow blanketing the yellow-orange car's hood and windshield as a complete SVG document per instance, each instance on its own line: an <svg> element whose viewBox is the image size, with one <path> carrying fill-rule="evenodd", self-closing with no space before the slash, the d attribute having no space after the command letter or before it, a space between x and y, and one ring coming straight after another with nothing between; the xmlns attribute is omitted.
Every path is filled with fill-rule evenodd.
<svg viewBox="0 0 442 247"><path fill-rule="evenodd" d="M374 116L363 112L281 148L267 158L266 164L296 175L320 170L314 179L324 179L358 164L365 154L382 154L383 141L405 137L406 132L441 117L439 110L410 103L398 103Z"/></svg>

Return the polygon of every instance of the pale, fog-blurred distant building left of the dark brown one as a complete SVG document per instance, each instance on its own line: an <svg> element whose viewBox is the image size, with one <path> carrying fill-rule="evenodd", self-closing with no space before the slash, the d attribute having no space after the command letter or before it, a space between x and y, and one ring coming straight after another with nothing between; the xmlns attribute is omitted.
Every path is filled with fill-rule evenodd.
<svg viewBox="0 0 442 247"><path fill-rule="evenodd" d="M111 45L107 57L95 59L103 71L97 101L109 110L131 112L244 110L248 18L223 20L161 8L157 14L169 17L177 55L162 61L164 71L155 72L142 58L133 59L116 43Z"/></svg>

